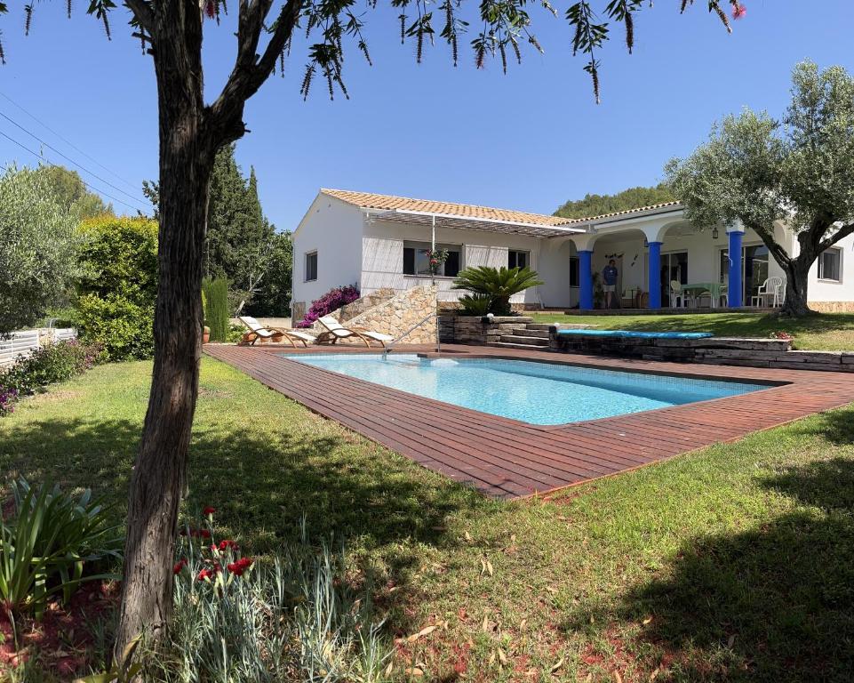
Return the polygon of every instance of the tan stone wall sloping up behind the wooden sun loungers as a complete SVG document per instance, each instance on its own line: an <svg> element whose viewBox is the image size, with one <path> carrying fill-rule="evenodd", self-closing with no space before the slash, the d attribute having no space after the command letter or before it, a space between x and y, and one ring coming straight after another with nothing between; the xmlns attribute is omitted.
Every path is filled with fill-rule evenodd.
<svg viewBox="0 0 854 683"><path fill-rule="evenodd" d="M418 324L431 313L435 313L437 291L438 288L435 285L421 285L386 298L382 294L383 290L379 290L377 292L378 298L382 301L371 306L371 308L364 309L353 317L339 318L339 321L347 327L361 327L373 332L391 334L396 339L409 330L412 325ZM373 294L369 296L373 296ZM368 298L363 297L363 299ZM319 323L315 323L315 332L322 332L323 329ZM436 324L435 319L433 319L413 330L402 343L435 344L435 342ZM358 338L351 337L338 343L362 344L363 342Z"/></svg>

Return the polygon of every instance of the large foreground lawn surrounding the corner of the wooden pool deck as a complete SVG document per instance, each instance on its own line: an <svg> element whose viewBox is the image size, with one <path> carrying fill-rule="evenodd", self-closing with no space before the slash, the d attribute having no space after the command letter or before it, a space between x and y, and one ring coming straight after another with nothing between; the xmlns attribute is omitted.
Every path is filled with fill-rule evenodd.
<svg viewBox="0 0 854 683"><path fill-rule="evenodd" d="M854 406L571 489L492 502L204 359L191 507L263 556L347 542L393 678L850 680ZM124 512L150 365L100 366L0 421L0 470ZM607 443L603 448L607 449Z"/></svg>

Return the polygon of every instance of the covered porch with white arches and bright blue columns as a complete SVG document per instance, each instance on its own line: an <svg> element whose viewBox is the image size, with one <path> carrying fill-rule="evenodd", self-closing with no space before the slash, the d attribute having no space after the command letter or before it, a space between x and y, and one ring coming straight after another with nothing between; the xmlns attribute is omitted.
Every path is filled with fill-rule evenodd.
<svg viewBox="0 0 854 683"><path fill-rule="evenodd" d="M683 218L682 207L598 222L569 240L582 311L678 313L783 303L783 273L757 235L740 225L698 228ZM613 293L603 283L611 261Z"/></svg>

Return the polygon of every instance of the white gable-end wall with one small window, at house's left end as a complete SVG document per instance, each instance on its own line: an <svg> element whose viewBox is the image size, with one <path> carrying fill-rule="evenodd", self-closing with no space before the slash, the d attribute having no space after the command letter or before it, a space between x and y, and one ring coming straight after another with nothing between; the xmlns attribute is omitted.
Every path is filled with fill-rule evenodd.
<svg viewBox="0 0 854 683"><path fill-rule="evenodd" d="M317 252L317 279L306 282L306 254ZM333 287L361 285L362 212L335 197L318 195L293 234L294 303L306 309Z"/></svg>

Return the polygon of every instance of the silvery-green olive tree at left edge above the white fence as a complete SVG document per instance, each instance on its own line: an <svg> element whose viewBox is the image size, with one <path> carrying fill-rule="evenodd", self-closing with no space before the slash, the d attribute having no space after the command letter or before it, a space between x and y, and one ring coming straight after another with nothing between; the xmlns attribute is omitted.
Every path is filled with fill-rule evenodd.
<svg viewBox="0 0 854 683"><path fill-rule="evenodd" d="M35 323L72 284L77 222L42 173L0 177L0 334Z"/></svg>

